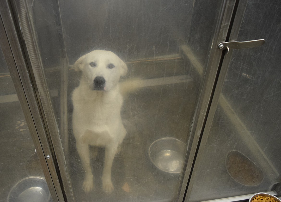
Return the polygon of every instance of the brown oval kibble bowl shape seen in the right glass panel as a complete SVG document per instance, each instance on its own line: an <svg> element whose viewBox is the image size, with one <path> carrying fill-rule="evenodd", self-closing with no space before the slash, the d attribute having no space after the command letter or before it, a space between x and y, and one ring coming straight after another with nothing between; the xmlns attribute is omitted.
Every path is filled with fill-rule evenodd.
<svg viewBox="0 0 281 202"><path fill-rule="evenodd" d="M228 152L225 164L232 179L242 185L257 186L264 179L262 170L240 151Z"/></svg>

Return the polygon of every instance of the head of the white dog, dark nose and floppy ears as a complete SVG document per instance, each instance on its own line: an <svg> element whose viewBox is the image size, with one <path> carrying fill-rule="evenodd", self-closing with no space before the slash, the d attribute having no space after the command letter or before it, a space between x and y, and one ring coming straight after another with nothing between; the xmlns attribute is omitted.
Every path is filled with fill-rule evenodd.
<svg viewBox="0 0 281 202"><path fill-rule="evenodd" d="M82 80L91 90L110 91L121 76L127 74L126 64L111 51L94 50L81 56L73 65L75 71L82 71Z"/></svg>

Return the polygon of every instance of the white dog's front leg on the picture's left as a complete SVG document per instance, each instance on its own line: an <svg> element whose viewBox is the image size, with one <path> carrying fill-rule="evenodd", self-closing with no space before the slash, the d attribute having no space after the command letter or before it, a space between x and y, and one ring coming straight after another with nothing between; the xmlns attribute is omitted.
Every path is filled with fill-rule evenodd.
<svg viewBox="0 0 281 202"><path fill-rule="evenodd" d="M83 189L89 192L94 188L92 168L90 165L90 149L89 145L81 142L76 143L78 154L81 158L83 168L85 170L85 178L83 182Z"/></svg>

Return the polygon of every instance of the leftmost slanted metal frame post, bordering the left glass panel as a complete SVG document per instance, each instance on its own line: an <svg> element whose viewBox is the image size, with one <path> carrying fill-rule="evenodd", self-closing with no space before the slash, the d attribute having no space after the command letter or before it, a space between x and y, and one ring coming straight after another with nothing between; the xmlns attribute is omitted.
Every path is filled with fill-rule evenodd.
<svg viewBox="0 0 281 202"><path fill-rule="evenodd" d="M17 29L13 24L10 4L7 1L0 1L0 15L0 46L15 85L17 97L28 124L44 176L53 201L64 201L58 176L56 175L55 164L52 159L47 160L45 158L47 154L51 153L49 142L44 138L46 131L36 102L34 88L26 71L26 63L17 38ZM39 134L41 134L41 138L39 138ZM58 186L57 189L55 189L55 186Z"/></svg>

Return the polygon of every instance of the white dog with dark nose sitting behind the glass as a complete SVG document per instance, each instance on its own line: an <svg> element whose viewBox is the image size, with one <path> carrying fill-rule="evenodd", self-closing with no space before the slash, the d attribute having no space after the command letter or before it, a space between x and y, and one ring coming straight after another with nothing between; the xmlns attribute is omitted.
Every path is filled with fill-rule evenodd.
<svg viewBox="0 0 281 202"><path fill-rule="evenodd" d="M127 73L126 64L110 51L95 50L81 56L74 69L82 71L80 85L72 94L73 133L85 178L83 189L93 189L89 146L105 147L105 165L102 175L103 190L111 193L111 167L117 147L126 130L121 120L123 97L119 79Z"/></svg>

